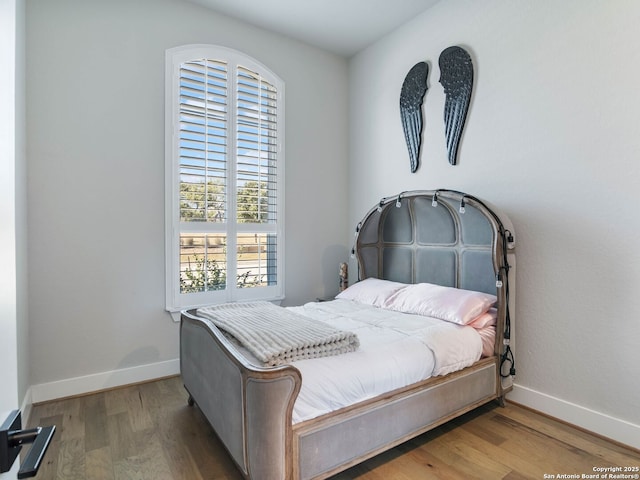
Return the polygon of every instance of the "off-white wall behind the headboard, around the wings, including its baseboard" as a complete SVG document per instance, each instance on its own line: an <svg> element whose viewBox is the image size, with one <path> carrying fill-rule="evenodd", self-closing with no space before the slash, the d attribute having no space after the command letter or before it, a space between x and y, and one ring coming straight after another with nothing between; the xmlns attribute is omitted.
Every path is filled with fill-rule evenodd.
<svg viewBox="0 0 640 480"><path fill-rule="evenodd" d="M439 2L350 62L350 223L380 197L453 188L515 224L517 388L548 413L640 447L640 3ZM438 57L467 48L476 82L447 163ZM398 111L430 61L422 164Z"/></svg>

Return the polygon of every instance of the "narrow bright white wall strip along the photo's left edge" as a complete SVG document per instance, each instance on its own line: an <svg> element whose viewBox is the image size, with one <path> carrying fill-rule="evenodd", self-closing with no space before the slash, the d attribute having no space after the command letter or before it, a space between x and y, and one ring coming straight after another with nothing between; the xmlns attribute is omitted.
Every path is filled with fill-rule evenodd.
<svg viewBox="0 0 640 480"><path fill-rule="evenodd" d="M0 422L29 407L24 20L24 2L0 0Z"/></svg>

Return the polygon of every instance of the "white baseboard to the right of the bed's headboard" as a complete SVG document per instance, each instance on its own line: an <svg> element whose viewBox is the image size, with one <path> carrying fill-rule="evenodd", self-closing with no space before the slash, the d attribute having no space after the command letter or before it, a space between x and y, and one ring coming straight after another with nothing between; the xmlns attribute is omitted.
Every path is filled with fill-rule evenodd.
<svg viewBox="0 0 640 480"><path fill-rule="evenodd" d="M610 417L575 403L514 384L507 400L519 403L577 427L640 449L640 425Z"/></svg>

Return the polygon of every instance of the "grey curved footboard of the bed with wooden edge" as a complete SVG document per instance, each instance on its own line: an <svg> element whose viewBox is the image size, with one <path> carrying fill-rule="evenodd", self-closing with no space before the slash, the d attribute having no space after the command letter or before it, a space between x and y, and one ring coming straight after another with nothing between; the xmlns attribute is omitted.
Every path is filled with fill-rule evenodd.
<svg viewBox="0 0 640 480"><path fill-rule="evenodd" d="M301 385L296 368L249 364L213 324L185 312L180 370L191 398L246 478L291 478L291 414Z"/></svg>

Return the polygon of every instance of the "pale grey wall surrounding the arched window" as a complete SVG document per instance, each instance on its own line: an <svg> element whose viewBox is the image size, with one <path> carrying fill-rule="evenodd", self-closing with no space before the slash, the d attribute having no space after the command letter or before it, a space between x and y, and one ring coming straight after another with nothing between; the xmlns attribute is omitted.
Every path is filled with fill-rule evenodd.
<svg viewBox="0 0 640 480"><path fill-rule="evenodd" d="M176 365L178 324L163 309L164 56L190 43L243 51L284 79L285 302L337 291L349 248L345 59L187 1L30 0L36 401L117 383L103 372Z"/></svg>

